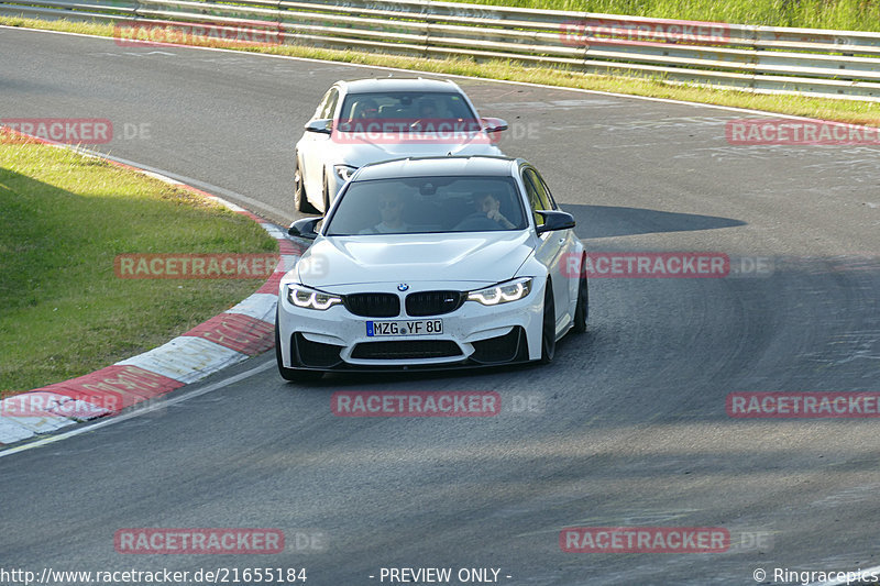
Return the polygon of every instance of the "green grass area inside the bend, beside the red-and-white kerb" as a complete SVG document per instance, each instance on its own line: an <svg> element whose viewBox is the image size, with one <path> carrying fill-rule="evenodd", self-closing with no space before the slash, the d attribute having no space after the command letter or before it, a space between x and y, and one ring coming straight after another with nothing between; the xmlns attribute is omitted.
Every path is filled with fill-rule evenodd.
<svg viewBox="0 0 880 586"><path fill-rule="evenodd" d="M117 255L277 251L258 224L190 191L23 141L0 144L0 218L2 395L155 347L262 283L122 279Z"/></svg>

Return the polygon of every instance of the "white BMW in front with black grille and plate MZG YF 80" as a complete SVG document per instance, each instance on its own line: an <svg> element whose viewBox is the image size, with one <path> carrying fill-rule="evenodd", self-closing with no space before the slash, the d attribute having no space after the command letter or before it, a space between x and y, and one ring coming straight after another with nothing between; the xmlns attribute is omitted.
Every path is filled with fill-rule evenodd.
<svg viewBox="0 0 880 586"><path fill-rule="evenodd" d="M366 165L280 281L288 380L327 371L550 362L587 318L584 247L538 172L490 156ZM572 263L572 259L575 263Z"/></svg>

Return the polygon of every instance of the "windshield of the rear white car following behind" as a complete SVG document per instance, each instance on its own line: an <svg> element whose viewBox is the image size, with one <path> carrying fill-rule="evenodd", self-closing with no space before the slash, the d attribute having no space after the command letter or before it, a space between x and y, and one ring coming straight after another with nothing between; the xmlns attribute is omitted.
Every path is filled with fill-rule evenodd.
<svg viewBox="0 0 880 586"><path fill-rule="evenodd" d="M457 92L395 91L352 93L345 97L339 115L339 130L363 132L367 125L389 125L394 132L416 128L430 132L439 123L464 124L480 130L471 107Z"/></svg>

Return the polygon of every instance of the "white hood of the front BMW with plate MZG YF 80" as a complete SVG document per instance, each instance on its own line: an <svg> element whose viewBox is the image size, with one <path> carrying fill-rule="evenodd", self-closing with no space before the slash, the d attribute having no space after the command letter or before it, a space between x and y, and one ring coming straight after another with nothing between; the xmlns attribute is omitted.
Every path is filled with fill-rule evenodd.
<svg viewBox="0 0 880 586"><path fill-rule="evenodd" d="M297 264L300 283L332 287L388 281L513 278L532 248L527 231L319 237Z"/></svg>

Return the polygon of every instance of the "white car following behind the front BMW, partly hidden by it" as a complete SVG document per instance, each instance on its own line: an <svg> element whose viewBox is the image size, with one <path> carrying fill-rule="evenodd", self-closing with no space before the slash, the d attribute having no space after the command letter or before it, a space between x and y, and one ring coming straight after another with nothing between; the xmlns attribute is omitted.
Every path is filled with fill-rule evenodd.
<svg viewBox="0 0 880 586"><path fill-rule="evenodd" d="M378 78L338 81L296 144L294 206L326 212L351 174L403 156L501 155L507 123L479 118L452 81Z"/></svg>

